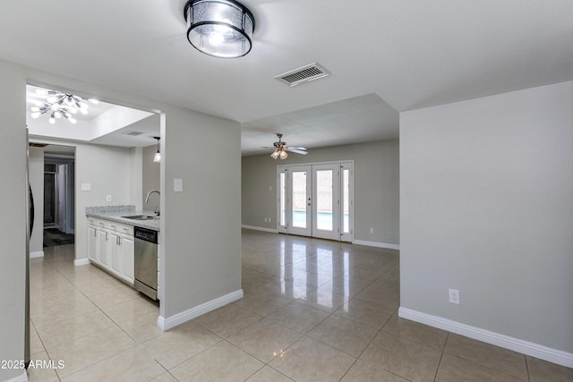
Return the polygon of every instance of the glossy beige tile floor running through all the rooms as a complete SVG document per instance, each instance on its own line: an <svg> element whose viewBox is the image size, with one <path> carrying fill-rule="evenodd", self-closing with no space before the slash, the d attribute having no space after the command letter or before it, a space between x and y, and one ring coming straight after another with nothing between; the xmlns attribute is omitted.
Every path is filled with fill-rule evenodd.
<svg viewBox="0 0 573 382"><path fill-rule="evenodd" d="M179 327L73 246L30 261L30 381L573 381L398 318L398 252L243 231L244 298Z"/></svg>

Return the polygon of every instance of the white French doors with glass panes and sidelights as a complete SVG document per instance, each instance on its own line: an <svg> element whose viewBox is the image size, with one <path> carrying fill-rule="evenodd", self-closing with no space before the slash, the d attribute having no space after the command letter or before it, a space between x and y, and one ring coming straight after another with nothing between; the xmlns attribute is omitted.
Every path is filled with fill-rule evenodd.
<svg viewBox="0 0 573 382"><path fill-rule="evenodd" d="M277 170L278 232L352 242L352 162Z"/></svg>

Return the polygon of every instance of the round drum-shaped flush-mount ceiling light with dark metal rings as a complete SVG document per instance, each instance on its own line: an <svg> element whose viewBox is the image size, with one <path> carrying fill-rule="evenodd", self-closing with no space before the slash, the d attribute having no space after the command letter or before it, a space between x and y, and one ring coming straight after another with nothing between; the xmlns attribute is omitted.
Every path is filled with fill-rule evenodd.
<svg viewBox="0 0 573 382"><path fill-rule="evenodd" d="M251 51L254 17L234 0L189 0L184 7L187 39L206 55L242 57Z"/></svg>

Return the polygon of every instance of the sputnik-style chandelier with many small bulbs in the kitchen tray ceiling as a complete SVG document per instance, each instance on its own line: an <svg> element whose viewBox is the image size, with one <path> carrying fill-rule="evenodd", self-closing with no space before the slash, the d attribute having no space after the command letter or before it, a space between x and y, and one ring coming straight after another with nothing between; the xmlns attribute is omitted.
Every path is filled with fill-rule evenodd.
<svg viewBox="0 0 573 382"><path fill-rule="evenodd" d="M56 123L56 119L64 117L70 123L76 123L77 120L73 118L80 112L82 115L88 114L88 104L86 102L91 102L97 105L99 101L97 99L86 99L78 96L74 96L70 93L63 93L56 90L47 89L37 89L36 92L39 96L44 97L45 100L36 101L35 106L30 107L31 117L38 118L40 115L49 114L49 123Z"/></svg>

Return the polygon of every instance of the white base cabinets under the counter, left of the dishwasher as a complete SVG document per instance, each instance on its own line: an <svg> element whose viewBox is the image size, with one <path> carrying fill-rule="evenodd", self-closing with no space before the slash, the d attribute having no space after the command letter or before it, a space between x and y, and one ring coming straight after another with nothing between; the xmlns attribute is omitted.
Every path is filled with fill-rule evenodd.
<svg viewBox="0 0 573 382"><path fill-rule="evenodd" d="M133 284L133 226L90 217L88 257L111 274Z"/></svg>

